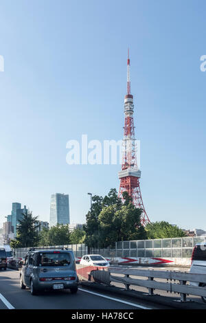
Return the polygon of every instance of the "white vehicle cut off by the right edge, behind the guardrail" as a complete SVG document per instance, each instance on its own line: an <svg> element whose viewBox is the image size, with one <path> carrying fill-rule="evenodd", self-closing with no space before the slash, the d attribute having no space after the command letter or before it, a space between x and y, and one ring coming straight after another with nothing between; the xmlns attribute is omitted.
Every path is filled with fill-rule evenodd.
<svg viewBox="0 0 206 323"><path fill-rule="evenodd" d="M191 274L206 274L206 243L197 243L194 246L191 262ZM206 284L201 282L190 282L190 285L206 288ZM206 302L206 297L202 297L202 300Z"/></svg>

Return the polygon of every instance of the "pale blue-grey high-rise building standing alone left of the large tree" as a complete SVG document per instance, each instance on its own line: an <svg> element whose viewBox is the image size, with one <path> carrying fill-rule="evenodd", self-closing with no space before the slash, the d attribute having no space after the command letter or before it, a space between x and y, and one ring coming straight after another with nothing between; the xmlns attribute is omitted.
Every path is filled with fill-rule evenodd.
<svg viewBox="0 0 206 323"><path fill-rule="evenodd" d="M60 193L52 194L49 227L69 223L69 195Z"/></svg>

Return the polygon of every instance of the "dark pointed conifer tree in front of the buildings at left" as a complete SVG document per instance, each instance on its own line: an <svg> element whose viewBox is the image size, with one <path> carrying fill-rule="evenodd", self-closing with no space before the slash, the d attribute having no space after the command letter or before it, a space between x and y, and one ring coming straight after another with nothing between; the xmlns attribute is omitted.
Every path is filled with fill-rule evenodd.
<svg viewBox="0 0 206 323"><path fill-rule="evenodd" d="M38 245L38 232L35 224L38 216L32 216L32 212L26 211L22 214L23 218L19 220L16 228L16 241L19 247L35 247Z"/></svg>

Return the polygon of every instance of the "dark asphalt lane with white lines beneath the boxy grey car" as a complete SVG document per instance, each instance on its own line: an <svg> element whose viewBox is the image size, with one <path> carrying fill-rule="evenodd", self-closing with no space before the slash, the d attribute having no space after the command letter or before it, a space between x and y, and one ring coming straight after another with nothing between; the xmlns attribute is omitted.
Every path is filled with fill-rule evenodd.
<svg viewBox="0 0 206 323"><path fill-rule="evenodd" d="M32 296L30 289L19 287L19 271L8 269L0 271L0 309L166 309L150 304L104 294L94 290L80 288L78 293L65 291L47 291Z"/></svg>

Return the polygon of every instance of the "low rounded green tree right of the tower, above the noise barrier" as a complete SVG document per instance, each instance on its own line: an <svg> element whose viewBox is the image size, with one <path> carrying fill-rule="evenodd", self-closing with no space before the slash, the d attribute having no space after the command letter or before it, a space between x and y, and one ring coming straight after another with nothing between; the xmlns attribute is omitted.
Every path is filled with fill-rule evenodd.
<svg viewBox="0 0 206 323"><path fill-rule="evenodd" d="M185 236L183 230L166 221L148 223L145 230L148 239L181 238Z"/></svg>

